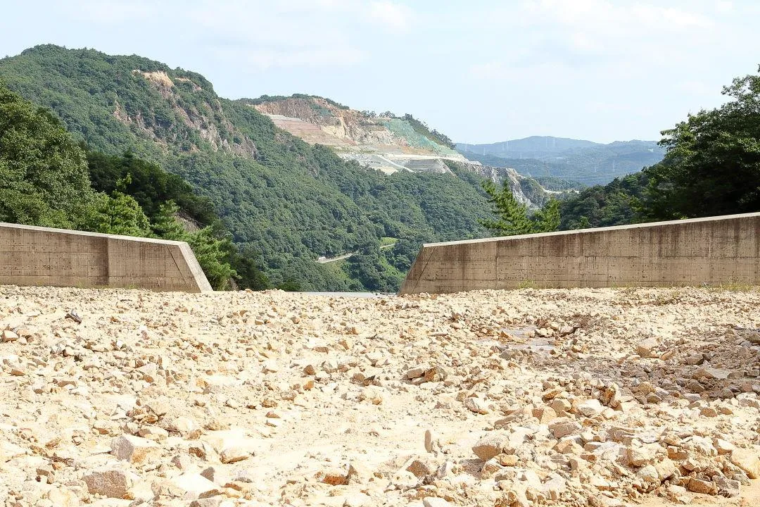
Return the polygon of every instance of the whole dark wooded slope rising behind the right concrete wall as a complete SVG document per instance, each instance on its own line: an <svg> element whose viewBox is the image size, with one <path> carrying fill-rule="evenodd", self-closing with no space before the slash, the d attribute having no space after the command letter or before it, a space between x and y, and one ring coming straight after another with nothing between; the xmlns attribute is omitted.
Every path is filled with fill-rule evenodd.
<svg viewBox="0 0 760 507"><path fill-rule="evenodd" d="M660 162L562 201L560 228L760 211L760 75L735 78L723 94L724 105L662 132Z"/></svg>

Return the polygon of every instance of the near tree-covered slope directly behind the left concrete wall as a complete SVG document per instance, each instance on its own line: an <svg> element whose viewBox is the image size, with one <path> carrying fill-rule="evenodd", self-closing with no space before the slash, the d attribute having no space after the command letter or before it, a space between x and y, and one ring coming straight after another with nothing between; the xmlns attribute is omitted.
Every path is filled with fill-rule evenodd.
<svg viewBox="0 0 760 507"><path fill-rule="evenodd" d="M0 221L186 241L212 287L268 286L204 204L154 164L85 151L49 109L0 82ZM199 227L185 230L180 211Z"/></svg>

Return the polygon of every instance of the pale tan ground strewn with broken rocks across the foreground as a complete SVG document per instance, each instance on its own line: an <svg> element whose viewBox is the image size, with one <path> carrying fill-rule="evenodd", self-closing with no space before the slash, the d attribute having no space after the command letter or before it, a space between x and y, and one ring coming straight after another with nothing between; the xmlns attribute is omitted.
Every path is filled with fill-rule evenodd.
<svg viewBox="0 0 760 507"><path fill-rule="evenodd" d="M0 505L760 505L756 328L757 291L0 287Z"/></svg>

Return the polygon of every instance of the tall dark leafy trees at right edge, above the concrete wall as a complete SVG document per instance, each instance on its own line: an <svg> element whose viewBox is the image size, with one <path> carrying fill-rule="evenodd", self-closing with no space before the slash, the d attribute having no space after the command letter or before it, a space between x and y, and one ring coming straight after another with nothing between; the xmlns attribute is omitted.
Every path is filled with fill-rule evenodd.
<svg viewBox="0 0 760 507"><path fill-rule="evenodd" d="M723 93L732 100L662 132L665 158L644 169L645 218L760 210L760 76L736 78Z"/></svg>

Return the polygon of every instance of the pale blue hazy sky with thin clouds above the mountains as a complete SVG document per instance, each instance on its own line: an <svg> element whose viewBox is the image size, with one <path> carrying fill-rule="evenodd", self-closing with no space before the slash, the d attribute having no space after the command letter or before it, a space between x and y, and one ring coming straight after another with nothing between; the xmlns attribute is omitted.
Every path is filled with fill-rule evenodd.
<svg viewBox="0 0 760 507"><path fill-rule="evenodd" d="M0 56L55 43L204 74L223 97L313 93L454 141L659 139L760 63L756 0L8 2Z"/></svg>

